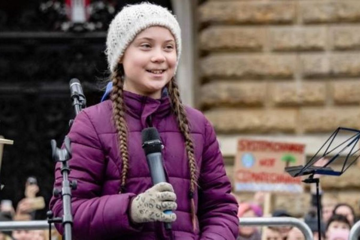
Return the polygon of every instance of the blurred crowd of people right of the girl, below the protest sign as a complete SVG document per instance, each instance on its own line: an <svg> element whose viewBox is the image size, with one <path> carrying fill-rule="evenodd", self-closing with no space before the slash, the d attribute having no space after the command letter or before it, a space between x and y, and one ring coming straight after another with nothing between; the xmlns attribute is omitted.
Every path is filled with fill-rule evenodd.
<svg viewBox="0 0 360 240"><path fill-rule="evenodd" d="M327 159L319 159L316 166L324 166L327 163ZM314 175L314 177L320 177ZM347 203L339 203L334 199L324 199L323 192L320 188L320 212L321 212L321 226L318 228L317 218L317 198L316 187L312 184L310 187L311 194L311 206L309 211L301 217L301 219L310 227L314 240L321 239L326 240L347 240L350 229L356 222L357 218L355 210L351 205ZM255 196L261 195L261 193L255 194ZM261 217L262 215L262 202L258 197L254 198L252 202L239 203L238 217ZM273 217L294 217L286 209L277 209L271 216ZM262 238L262 235L265 237ZM260 231L258 227L242 226L241 221L239 225L239 237L237 240L305 240L305 236L302 232L291 226L280 227L266 227Z"/></svg>

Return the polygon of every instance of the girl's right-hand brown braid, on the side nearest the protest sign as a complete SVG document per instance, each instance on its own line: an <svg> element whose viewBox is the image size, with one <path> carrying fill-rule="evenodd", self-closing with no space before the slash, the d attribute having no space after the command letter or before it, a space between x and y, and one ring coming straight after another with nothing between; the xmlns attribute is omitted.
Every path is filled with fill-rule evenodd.
<svg viewBox="0 0 360 240"><path fill-rule="evenodd" d="M190 137L190 130L189 130L189 121L188 117L186 116L184 105L181 103L180 99L180 92L173 77L168 84L168 91L171 98L172 103L172 110L176 116L177 123L179 124L180 131L183 133L185 138L185 148L186 153L188 154L189 158L189 168L190 168L190 201L191 201L191 216L192 216L192 223L193 223L193 230L196 230L196 214L195 214L195 203L194 203L194 193L195 187L198 186L197 180L197 166L195 161L195 154L194 154L194 144L193 140Z"/></svg>

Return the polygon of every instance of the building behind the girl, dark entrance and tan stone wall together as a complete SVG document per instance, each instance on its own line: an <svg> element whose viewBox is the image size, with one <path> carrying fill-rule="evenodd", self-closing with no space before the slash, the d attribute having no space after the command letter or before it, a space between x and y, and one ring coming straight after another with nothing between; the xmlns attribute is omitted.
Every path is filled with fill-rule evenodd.
<svg viewBox="0 0 360 240"><path fill-rule="evenodd" d="M89 1L82 28L69 24L66 2L0 2L0 134L14 140L4 151L1 198L15 203L29 175L50 199L50 140L60 144L74 112L68 82L82 82L87 106L100 101L108 23L140 1ZM360 129L360 1L151 2L177 15L182 97L214 124L230 179L238 137L301 142L311 157L338 126ZM359 213L358 172L355 164L341 177L323 177L325 197ZM300 215L309 198L276 194L274 205Z"/></svg>

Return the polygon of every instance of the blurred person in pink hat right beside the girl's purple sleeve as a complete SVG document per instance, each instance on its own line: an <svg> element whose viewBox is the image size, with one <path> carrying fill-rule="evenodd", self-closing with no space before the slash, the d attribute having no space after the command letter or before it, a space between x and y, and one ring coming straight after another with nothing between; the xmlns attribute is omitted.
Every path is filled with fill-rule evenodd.
<svg viewBox="0 0 360 240"><path fill-rule="evenodd" d="M262 209L259 205L253 203L240 203L238 217L261 217ZM240 221L239 236L237 240L260 240L261 234L255 226L242 226Z"/></svg>

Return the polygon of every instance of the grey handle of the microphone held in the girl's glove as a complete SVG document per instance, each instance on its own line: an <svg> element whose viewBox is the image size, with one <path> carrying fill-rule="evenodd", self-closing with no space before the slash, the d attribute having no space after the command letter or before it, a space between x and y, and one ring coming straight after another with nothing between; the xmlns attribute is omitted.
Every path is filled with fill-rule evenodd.
<svg viewBox="0 0 360 240"><path fill-rule="evenodd" d="M149 153L146 156L148 160L149 170L153 185L158 184L159 182L166 182L164 167L162 165L162 155L161 153ZM171 214L171 210L165 210L165 214ZM171 223L165 222L165 229L171 230Z"/></svg>

